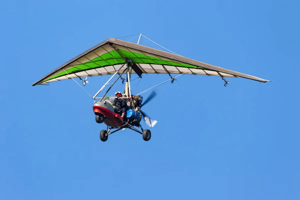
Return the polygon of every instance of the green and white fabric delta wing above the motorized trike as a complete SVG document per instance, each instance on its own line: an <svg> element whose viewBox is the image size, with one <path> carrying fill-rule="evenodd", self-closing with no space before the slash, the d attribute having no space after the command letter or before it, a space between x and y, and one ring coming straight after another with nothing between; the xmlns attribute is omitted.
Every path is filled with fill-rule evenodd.
<svg viewBox="0 0 300 200"><path fill-rule="evenodd" d="M62 64L32 85L75 77L113 74L120 67L125 69L126 65L123 64L128 61L131 63L131 72L139 76L142 73L184 73L268 81L155 48L109 38Z"/></svg>

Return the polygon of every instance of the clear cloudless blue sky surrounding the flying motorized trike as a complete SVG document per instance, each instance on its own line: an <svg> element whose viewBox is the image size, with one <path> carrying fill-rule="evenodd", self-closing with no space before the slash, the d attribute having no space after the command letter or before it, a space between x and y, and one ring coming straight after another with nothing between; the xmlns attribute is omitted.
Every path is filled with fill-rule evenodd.
<svg viewBox="0 0 300 200"><path fill-rule="evenodd" d="M299 199L298 7L295 0L2 0L0 199ZM148 142L130 130L101 142L93 100L72 80L31 86L109 37L139 33L273 82L229 78L224 87L220 77L183 75L160 85L144 107L158 120ZM85 88L95 93L108 78L89 78ZM167 78L145 75L132 90Z"/></svg>

